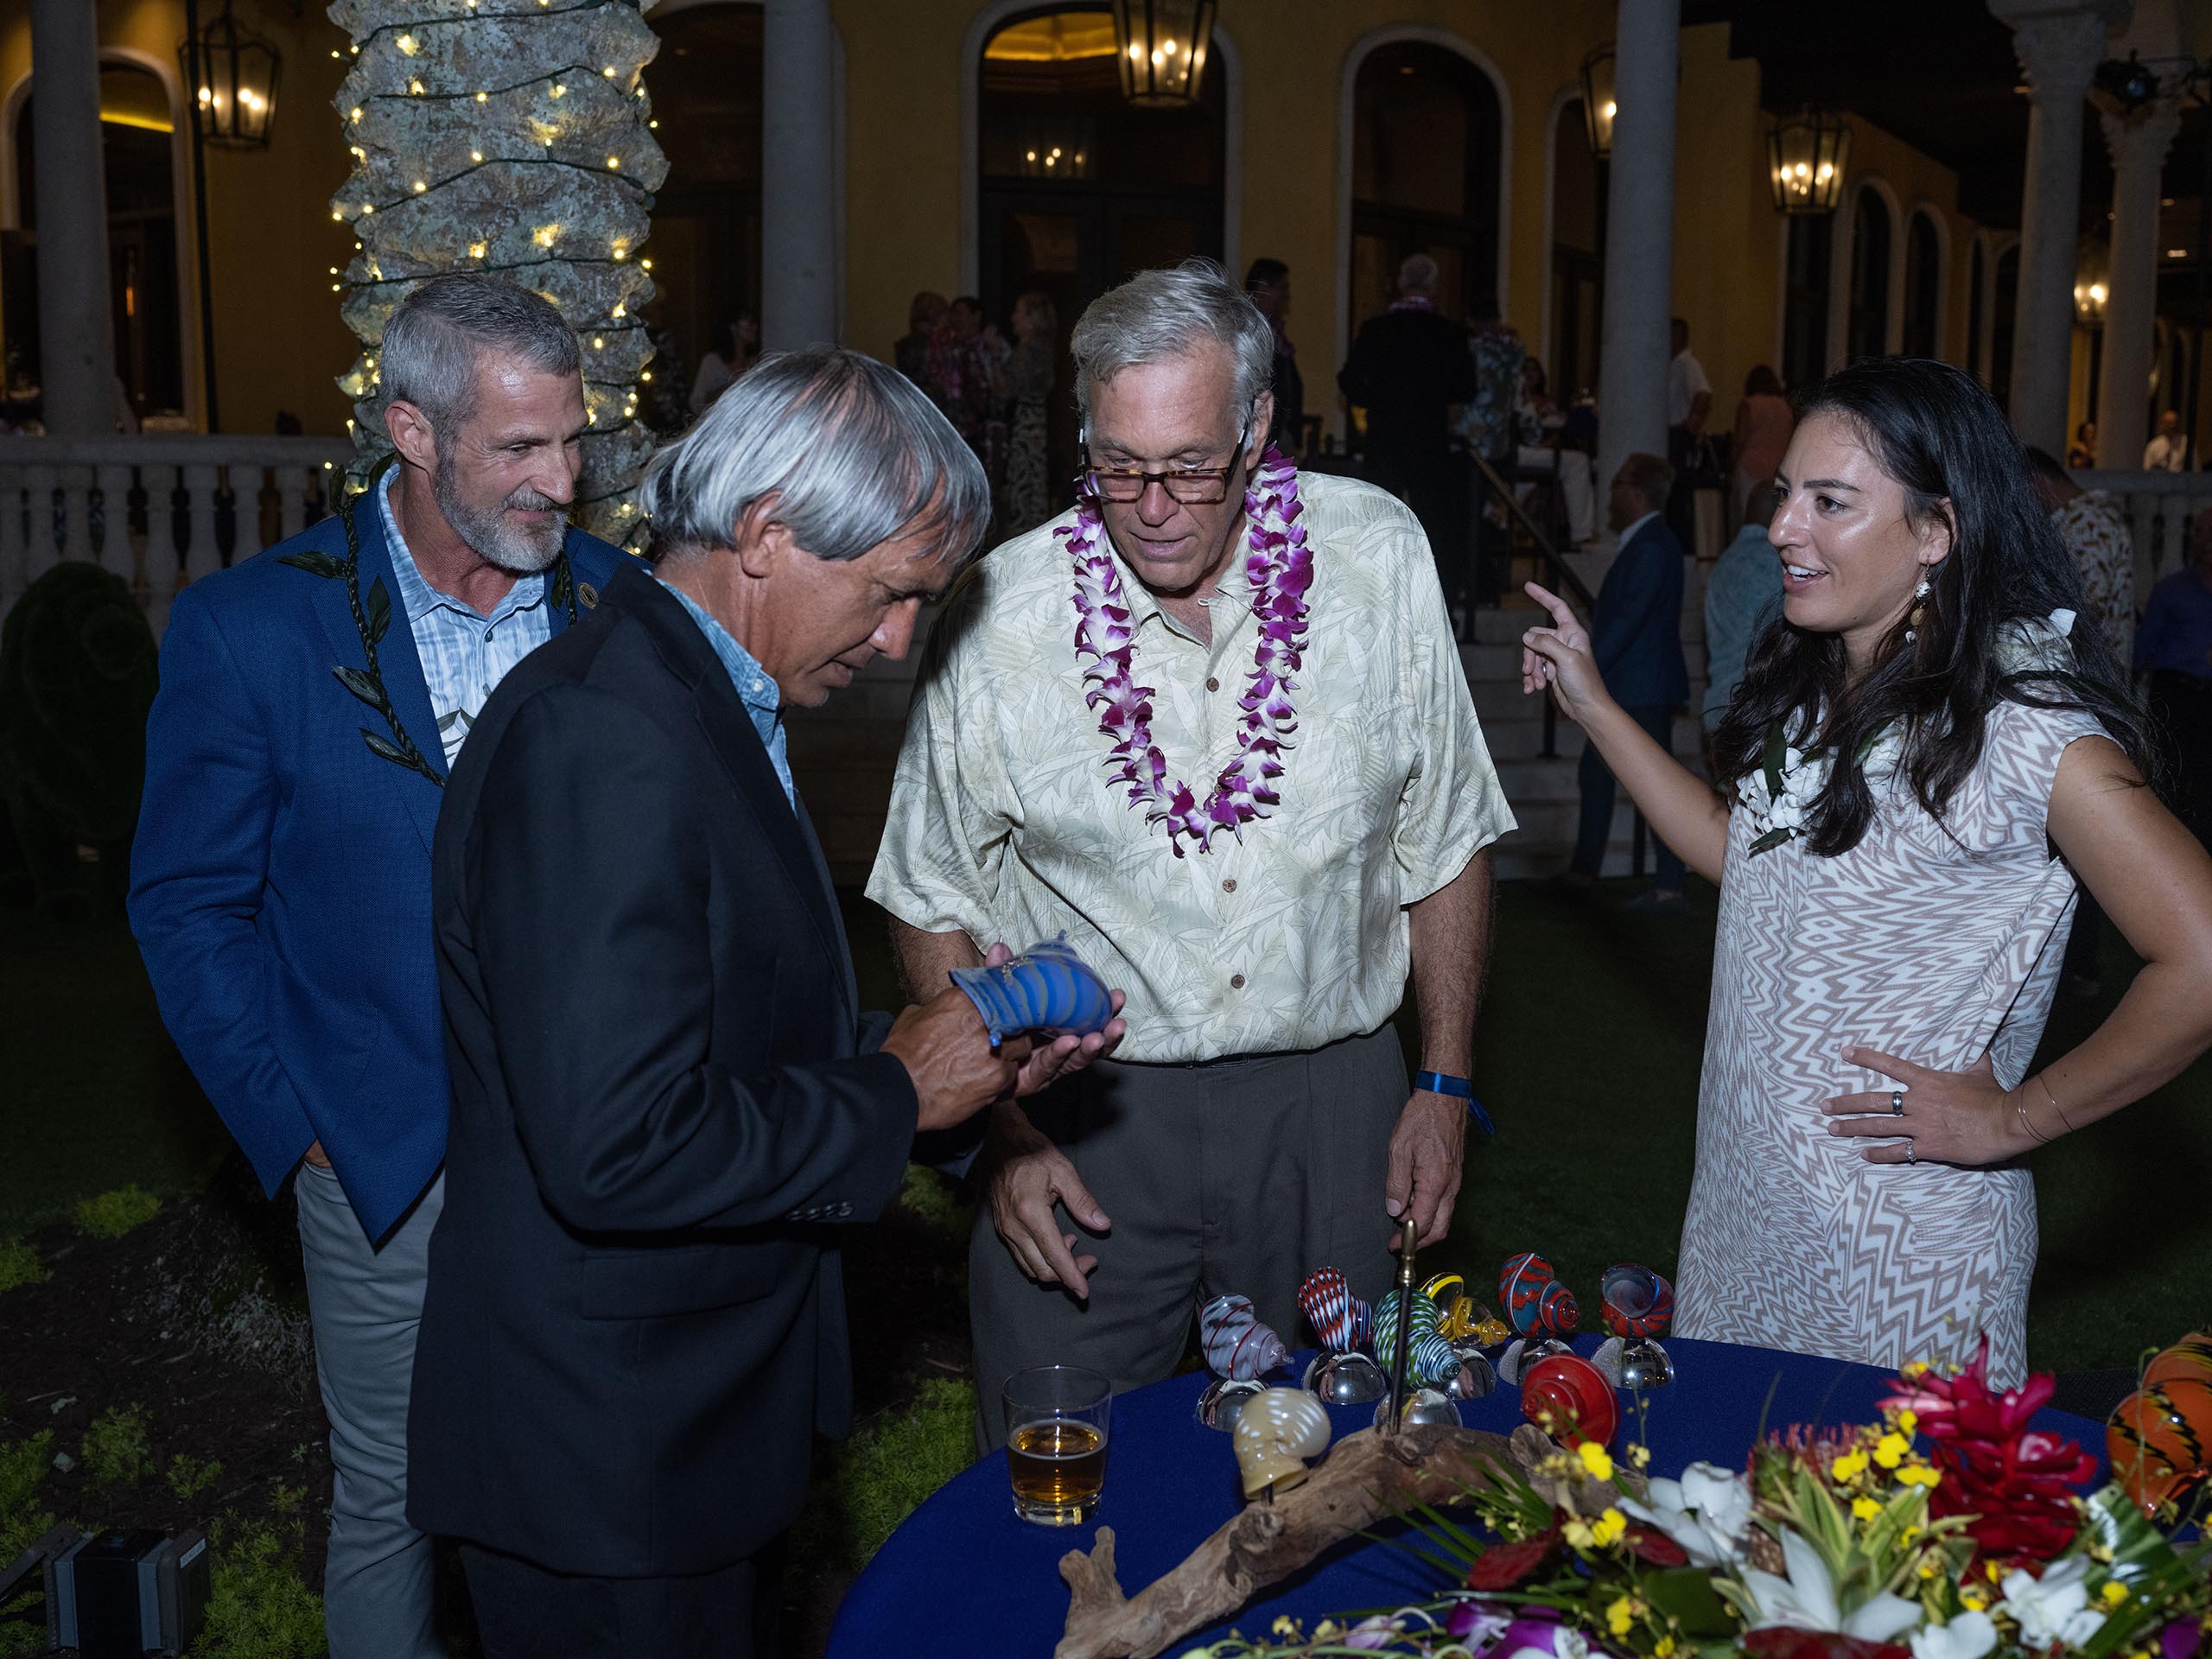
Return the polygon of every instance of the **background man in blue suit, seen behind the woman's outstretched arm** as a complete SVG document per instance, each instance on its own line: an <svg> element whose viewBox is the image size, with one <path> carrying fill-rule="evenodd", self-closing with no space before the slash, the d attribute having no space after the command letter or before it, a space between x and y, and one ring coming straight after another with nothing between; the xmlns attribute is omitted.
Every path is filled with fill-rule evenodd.
<svg viewBox="0 0 2212 1659"><path fill-rule="evenodd" d="M1590 613L1590 655L1606 690L1668 752L1674 750L1674 710L1690 697L1681 659L1681 542L1666 526L1674 469L1659 456L1628 456L1613 478L1613 529L1621 551L1597 588ZM1566 880L1597 880L1613 838L1613 772L1593 745L1582 750L1582 823ZM1681 858L1659 843L1659 880L1652 902L1679 905Z"/></svg>

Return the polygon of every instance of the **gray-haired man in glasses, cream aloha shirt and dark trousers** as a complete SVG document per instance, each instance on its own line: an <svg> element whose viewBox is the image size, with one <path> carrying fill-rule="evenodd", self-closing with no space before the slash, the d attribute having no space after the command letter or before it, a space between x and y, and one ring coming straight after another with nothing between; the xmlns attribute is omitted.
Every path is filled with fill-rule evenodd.
<svg viewBox="0 0 2212 1659"><path fill-rule="evenodd" d="M1102 296L1075 358L1104 524L1064 513L995 549L920 670L867 887L909 987L980 960L978 942L1066 933L1128 993L1117 1057L998 1108L984 1141L969 1267L987 1444L1018 1369L1152 1383L1219 1294L1250 1296L1298 1347L1312 1270L1374 1298L1400 1219L1425 1241L1451 1223L1469 1102L1447 1091L1471 1073L1484 849L1513 816L1420 524L1369 484L1261 462L1272 352L1206 261ZM1210 487L1219 502L1186 500ZM1281 542L1250 546L1248 489L1263 531L1303 529L1294 626L1298 584L1250 580L1290 566ZM1075 650L1086 546L1086 637L1124 637L1102 604L1128 613L1121 706L1110 664ZM1117 586L1104 602L1102 580ZM1234 830L1170 843L1177 823L1148 821L1115 779L1117 737L1150 776L1146 732L1121 717L1148 719L1168 803L1186 779L1203 812L1267 664L1254 593L1279 624L1265 633L1296 644L1274 659L1287 686L1267 688L1290 708L1261 699L1283 717L1281 774L1250 810L1221 807ZM1438 1084L1411 1093L1391 1029L1409 971Z"/></svg>

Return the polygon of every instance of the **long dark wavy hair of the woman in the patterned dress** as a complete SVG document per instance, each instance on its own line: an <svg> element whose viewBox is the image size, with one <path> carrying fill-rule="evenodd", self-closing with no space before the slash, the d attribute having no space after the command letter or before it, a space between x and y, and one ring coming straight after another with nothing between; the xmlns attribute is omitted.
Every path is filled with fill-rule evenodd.
<svg viewBox="0 0 2212 1659"><path fill-rule="evenodd" d="M1982 728L2000 701L2084 710L2148 774L2141 710L2093 617L2084 615L2068 639L2070 670L2008 672L2000 661L2006 624L2088 606L2073 555L2028 480L2026 451L1995 400L1949 363L1867 358L1798 398L1798 422L1816 414L1856 429L1882 473L1905 489L1907 522L1942 520L1949 502L1951 553L1927 571L1916 637L1907 641L1900 619L1856 679L1843 635L1776 617L1752 646L1712 737L1721 776L1763 765L1776 723L1794 748L1834 754L1805 825L1809 849L1834 856L1867 834L1874 792L1858 759L1891 723L1905 732L1902 772L1936 818L1982 759Z"/></svg>

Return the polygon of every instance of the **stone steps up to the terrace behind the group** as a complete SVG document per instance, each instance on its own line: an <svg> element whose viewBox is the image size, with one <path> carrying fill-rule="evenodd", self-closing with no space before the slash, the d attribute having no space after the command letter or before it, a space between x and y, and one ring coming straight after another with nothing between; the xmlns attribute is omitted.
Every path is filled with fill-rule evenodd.
<svg viewBox="0 0 2212 1659"><path fill-rule="evenodd" d="M1604 555L1575 555L1577 566L1597 566ZM1595 588L1599 568L1582 568ZM1526 599L1504 611L1482 611L1475 617L1473 644L1460 646L1460 664L1475 699L1482 737L1498 768L1506 803L1520 823L1498 849L1500 878L1551 876L1566 869L1575 847L1579 785L1575 768L1582 757L1582 732L1568 719L1557 721L1555 754L1544 754L1544 708L1520 688L1520 635L1542 613ZM1701 582L1692 573L1683 595L1683 655L1690 659L1690 706L1705 695ZM905 661L874 661L858 679L821 710L792 710L790 759L792 776L805 794L807 812L823 841L823 854L838 885L867 880L883 838L883 821L891 801L891 768L914 697L914 664L920 641ZM1674 721L1674 752L1686 765L1699 768L1699 726L1690 717ZM1613 838L1606 847L1604 874L1630 872L1635 812L1626 794L1613 810ZM1646 852L1650 869L1650 852Z"/></svg>

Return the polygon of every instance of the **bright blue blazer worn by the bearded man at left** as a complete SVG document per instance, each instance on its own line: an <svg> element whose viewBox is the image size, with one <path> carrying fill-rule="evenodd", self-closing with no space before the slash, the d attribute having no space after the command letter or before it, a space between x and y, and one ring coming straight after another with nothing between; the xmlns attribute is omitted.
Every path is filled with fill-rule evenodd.
<svg viewBox="0 0 2212 1659"><path fill-rule="evenodd" d="M363 495L361 595L383 582L376 646L400 726L445 750L383 513ZM445 1029L429 854L442 785L374 754L383 717L332 672L365 668L345 582L285 555L345 557L338 518L177 595L146 721L146 796L131 849L131 931L161 1020L276 1192L323 1141L369 1239L445 1161ZM568 531L577 615L628 555ZM546 599L553 633L566 606ZM582 872L577 872L582 876Z"/></svg>

